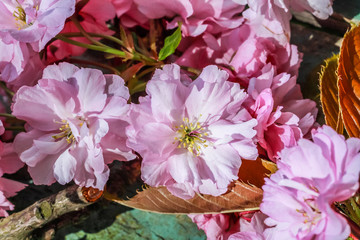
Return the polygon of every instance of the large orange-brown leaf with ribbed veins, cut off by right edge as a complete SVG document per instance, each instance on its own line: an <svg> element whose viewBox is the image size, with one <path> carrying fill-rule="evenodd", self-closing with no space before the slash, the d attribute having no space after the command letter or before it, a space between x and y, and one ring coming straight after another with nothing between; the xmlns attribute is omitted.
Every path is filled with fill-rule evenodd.
<svg viewBox="0 0 360 240"><path fill-rule="evenodd" d="M360 137L360 26L344 36L338 66L340 111L350 137Z"/></svg>

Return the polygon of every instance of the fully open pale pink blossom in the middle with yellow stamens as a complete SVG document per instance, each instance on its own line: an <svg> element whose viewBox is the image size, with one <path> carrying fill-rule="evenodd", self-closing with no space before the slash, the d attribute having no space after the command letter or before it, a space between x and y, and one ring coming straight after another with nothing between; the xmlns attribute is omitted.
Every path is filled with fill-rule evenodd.
<svg viewBox="0 0 360 240"><path fill-rule="evenodd" d="M241 159L256 159L257 121L242 107L247 94L227 78L216 66L193 82L175 64L155 71L127 128L145 183L182 198L220 195L238 178Z"/></svg>

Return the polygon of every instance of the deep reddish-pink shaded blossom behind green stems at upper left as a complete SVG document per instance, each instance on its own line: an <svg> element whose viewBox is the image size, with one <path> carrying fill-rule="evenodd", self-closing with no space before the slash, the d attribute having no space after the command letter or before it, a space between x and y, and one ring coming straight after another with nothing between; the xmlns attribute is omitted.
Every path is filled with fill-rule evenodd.
<svg viewBox="0 0 360 240"><path fill-rule="evenodd" d="M77 0L83 3L81 0ZM115 17L115 8L111 0L88 1L85 5L76 8L76 18L86 32L101 33L104 35L113 35L114 31L110 30L106 24L107 21ZM67 21L61 33L79 32L79 29L72 21ZM90 44L91 42L84 37L71 38L74 41ZM98 40L98 38L94 38ZM78 47L66 42L56 40L47 48L48 62L61 60L69 56L79 56L86 51L86 48Z"/></svg>

